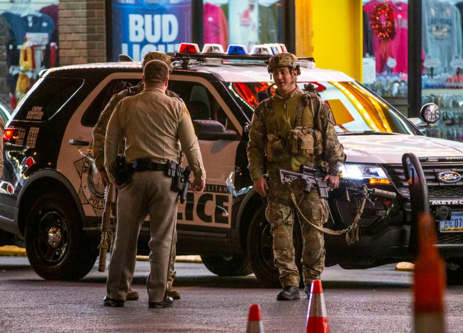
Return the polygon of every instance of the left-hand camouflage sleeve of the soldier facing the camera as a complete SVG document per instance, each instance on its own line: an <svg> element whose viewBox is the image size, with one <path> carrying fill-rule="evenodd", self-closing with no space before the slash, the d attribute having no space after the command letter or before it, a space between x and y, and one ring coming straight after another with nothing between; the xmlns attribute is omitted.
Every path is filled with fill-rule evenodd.
<svg viewBox="0 0 463 333"><path fill-rule="evenodd" d="M253 180L263 176L265 137L267 134L262 117L263 110L263 104L260 103L254 110L251 120L251 129L249 130L248 169Z"/></svg>

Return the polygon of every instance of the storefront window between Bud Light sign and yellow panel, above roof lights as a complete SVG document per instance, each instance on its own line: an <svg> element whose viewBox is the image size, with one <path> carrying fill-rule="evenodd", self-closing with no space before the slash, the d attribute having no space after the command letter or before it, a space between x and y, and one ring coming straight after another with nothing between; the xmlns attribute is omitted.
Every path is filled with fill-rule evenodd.
<svg viewBox="0 0 463 333"><path fill-rule="evenodd" d="M282 43L282 2L276 0L205 0L204 43L246 45Z"/></svg>

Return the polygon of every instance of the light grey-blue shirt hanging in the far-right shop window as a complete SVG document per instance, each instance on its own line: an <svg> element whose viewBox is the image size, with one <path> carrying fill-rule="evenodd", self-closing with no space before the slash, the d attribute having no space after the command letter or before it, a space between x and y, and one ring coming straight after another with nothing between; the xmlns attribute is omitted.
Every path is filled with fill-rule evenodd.
<svg viewBox="0 0 463 333"><path fill-rule="evenodd" d="M423 48L426 57L438 59L434 73L452 72L454 55L462 55L461 15L449 2L423 0Z"/></svg>

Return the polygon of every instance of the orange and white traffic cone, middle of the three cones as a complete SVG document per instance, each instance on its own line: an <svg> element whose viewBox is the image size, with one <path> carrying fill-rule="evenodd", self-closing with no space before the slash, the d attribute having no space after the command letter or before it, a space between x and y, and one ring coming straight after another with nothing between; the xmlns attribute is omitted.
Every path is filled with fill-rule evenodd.
<svg viewBox="0 0 463 333"><path fill-rule="evenodd" d="M307 309L306 333L329 333L321 280L313 280Z"/></svg>

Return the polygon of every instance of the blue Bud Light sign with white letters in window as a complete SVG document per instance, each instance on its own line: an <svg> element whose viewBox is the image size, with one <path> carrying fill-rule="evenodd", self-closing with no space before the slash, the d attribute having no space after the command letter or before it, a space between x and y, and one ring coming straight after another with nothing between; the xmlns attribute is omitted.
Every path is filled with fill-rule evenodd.
<svg viewBox="0 0 463 333"><path fill-rule="evenodd" d="M151 51L176 52L191 41L191 1L113 0L112 57L135 61Z"/></svg>

